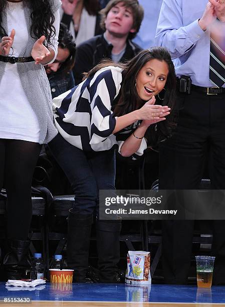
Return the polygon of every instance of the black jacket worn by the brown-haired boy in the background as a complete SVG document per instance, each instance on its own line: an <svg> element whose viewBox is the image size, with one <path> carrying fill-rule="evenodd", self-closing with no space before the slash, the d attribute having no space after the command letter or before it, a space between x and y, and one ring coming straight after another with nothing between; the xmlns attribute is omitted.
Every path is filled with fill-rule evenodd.
<svg viewBox="0 0 225 307"><path fill-rule="evenodd" d="M89 72L102 59L111 59L112 48L113 46L107 43L103 34L94 36L90 40L80 44L77 47L75 65L73 68L75 84L81 83L83 73ZM141 50L141 47L137 44L127 40L127 46L120 62L132 59Z"/></svg>

